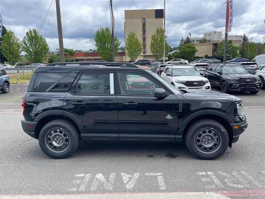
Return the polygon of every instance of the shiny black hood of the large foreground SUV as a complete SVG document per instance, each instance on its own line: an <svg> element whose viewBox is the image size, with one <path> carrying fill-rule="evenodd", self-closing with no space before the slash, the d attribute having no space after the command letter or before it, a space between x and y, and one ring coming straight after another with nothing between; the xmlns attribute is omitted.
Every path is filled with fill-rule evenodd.
<svg viewBox="0 0 265 199"><path fill-rule="evenodd" d="M217 101L217 102L235 102L242 101L239 97L220 93L217 91L206 91L198 89L189 89L187 93L182 95L190 101Z"/></svg>

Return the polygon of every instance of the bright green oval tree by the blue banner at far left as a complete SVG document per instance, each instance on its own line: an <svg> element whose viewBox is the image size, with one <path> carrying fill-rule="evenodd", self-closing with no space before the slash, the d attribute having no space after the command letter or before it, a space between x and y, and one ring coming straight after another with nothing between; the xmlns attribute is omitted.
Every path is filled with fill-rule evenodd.
<svg viewBox="0 0 265 199"><path fill-rule="evenodd" d="M0 46L1 54L7 61L13 65L20 60L20 53L21 53L21 42L19 38L15 35L15 33L9 30L3 36L3 43Z"/></svg>

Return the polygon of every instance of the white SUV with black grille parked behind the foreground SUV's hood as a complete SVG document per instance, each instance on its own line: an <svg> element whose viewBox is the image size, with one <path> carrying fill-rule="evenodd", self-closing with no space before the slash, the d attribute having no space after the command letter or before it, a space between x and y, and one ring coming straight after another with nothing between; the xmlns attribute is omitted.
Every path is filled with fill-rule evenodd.
<svg viewBox="0 0 265 199"><path fill-rule="evenodd" d="M161 77L178 89L211 90L209 80L202 77L193 66L166 66Z"/></svg>

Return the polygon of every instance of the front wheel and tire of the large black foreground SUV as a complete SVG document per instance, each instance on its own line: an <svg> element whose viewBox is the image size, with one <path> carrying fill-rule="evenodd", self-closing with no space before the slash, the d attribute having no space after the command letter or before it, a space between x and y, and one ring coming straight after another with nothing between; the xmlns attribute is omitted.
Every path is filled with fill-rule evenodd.
<svg viewBox="0 0 265 199"><path fill-rule="evenodd" d="M229 144L229 136L219 122L203 119L189 127L185 142L191 154L199 159L211 160L225 153Z"/></svg>

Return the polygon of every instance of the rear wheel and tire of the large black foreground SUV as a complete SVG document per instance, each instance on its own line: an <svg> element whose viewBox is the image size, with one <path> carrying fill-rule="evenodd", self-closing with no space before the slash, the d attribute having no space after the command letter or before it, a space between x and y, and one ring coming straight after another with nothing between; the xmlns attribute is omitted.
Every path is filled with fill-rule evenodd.
<svg viewBox="0 0 265 199"><path fill-rule="evenodd" d="M63 119L48 122L39 134L40 148L46 155L55 159L72 155L78 148L79 142L80 136L76 127Z"/></svg>

